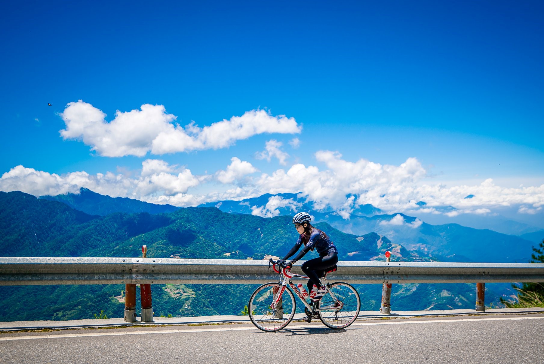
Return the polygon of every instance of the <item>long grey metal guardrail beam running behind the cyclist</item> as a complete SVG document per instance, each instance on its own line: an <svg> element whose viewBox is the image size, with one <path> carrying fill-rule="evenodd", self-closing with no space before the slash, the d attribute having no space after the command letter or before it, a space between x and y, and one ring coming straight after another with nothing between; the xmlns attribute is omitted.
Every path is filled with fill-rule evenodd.
<svg viewBox="0 0 544 364"><path fill-rule="evenodd" d="M253 284L277 279L268 260L0 258L0 285ZM300 263L293 272L301 273ZM350 283L544 282L544 264L339 261L329 280Z"/></svg>

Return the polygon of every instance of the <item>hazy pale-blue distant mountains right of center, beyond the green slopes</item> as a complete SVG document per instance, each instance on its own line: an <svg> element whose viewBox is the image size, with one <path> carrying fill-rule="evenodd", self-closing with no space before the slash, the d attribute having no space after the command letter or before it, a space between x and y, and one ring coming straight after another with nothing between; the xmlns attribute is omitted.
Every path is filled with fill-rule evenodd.
<svg viewBox="0 0 544 364"><path fill-rule="evenodd" d="M296 194L262 195L242 201L218 201L200 205L217 207L228 213L294 215L309 211L316 222L327 222L345 233L364 235L375 232L421 256L440 261L480 261L491 263L526 263L531 246L544 238L544 230L522 236L476 229L457 223L431 225L415 216L385 214L372 205L355 209L346 219L331 211L316 211ZM510 221L510 220L509 220ZM515 222L511 221L515 225Z"/></svg>

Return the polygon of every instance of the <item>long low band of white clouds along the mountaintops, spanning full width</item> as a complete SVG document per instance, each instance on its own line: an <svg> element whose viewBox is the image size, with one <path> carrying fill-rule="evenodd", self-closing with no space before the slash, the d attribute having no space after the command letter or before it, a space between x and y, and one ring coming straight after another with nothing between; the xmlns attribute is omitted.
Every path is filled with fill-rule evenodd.
<svg viewBox="0 0 544 364"><path fill-rule="evenodd" d="M337 152L316 153L318 165L297 163L252 177L256 169L237 157L230 165L212 175L195 176L185 167L170 165L160 159L146 159L141 173L89 175L84 171L57 175L19 165L0 178L0 190L22 190L33 195L77 193L86 187L97 193L131 197L153 203L195 206L203 202L242 200L265 193L300 193L317 210L335 210L344 219L357 206L370 203L386 213L440 213L441 207L453 207L447 216L493 214L493 209L511 207L520 214L542 214L544 184L504 188L488 179L479 184L447 187L444 184L421 184L425 169L416 158L400 165L382 165L359 159L350 162ZM191 191L210 180L224 183L217 190L196 195ZM236 186L232 183L236 181ZM471 199L465 199L473 194ZM419 201L426 202L420 207ZM272 201L273 202L273 201ZM273 203L256 207L255 214L274 215L279 207ZM280 205L277 205L280 206ZM400 220L401 216L399 216ZM416 222L412 222L415 226Z"/></svg>

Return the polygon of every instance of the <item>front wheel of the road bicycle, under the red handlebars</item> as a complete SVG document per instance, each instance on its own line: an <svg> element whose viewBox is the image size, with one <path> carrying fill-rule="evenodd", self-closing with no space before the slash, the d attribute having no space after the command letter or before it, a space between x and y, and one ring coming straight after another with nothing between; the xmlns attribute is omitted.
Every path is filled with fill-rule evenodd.
<svg viewBox="0 0 544 364"><path fill-rule="evenodd" d="M295 297L285 287L281 292L281 284L265 283L253 292L248 304L248 314L251 322L260 330L273 332L286 327L295 315ZM276 297L281 297L273 306Z"/></svg>

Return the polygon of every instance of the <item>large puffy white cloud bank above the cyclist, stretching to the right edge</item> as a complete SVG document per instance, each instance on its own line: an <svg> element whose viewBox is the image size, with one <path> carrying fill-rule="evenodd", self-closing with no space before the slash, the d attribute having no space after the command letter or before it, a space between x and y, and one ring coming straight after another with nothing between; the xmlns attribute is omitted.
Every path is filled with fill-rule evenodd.
<svg viewBox="0 0 544 364"><path fill-rule="evenodd" d="M300 192L314 202L316 209L331 207L342 212L344 218L354 207L365 203L388 213L418 210L438 214L436 207L456 208L446 213L448 216L486 214L500 206L530 204L537 209L544 205L544 184L502 188L488 179L477 186L420 185L426 171L416 158L408 158L400 165L382 165L366 159L349 162L341 157L338 152L318 151L316 159L326 168L294 164L288 170L262 174L251 188L255 195ZM465 199L469 194L475 196ZM355 200L350 202L353 196ZM425 201L426 205L420 209L418 201Z"/></svg>

